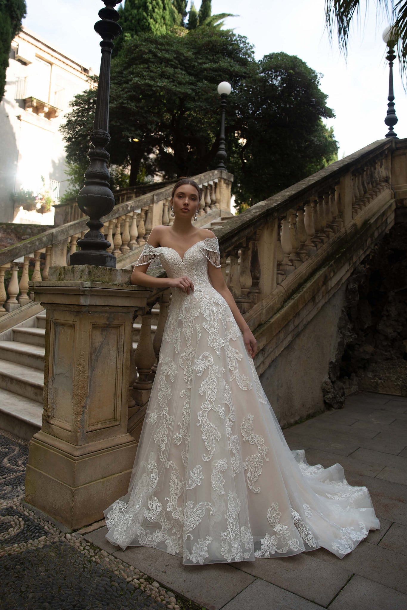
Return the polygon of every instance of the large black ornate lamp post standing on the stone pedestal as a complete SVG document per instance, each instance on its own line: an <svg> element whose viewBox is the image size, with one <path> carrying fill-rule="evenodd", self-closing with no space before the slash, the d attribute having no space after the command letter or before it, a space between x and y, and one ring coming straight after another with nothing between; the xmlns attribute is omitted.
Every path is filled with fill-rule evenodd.
<svg viewBox="0 0 407 610"><path fill-rule="evenodd" d="M116 258L107 252L110 243L100 232L103 227L101 217L106 216L115 206L115 198L110 190L110 173L107 162L110 159L106 151L110 142L109 135L109 90L110 90L110 57L112 55L113 38L121 34L117 23L119 13L115 0L103 0L105 7L99 10L101 21L95 23L95 30L102 37L101 63L96 98L96 113L90 141L93 147L88 152L90 164L85 172L84 187L77 196L77 205L88 217L89 231L83 239L77 242L81 250L70 256L70 265L100 265L101 267L116 267Z"/></svg>

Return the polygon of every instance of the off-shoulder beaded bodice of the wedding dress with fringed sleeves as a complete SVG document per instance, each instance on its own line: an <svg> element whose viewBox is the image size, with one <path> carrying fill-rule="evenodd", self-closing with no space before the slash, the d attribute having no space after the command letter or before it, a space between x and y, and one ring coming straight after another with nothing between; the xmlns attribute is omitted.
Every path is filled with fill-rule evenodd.
<svg viewBox="0 0 407 610"><path fill-rule="evenodd" d="M194 289L199 289L211 285L207 274L208 260L215 267L220 267L217 237L206 237L194 243L185 251L183 258L173 248L146 243L136 266L149 263L149 269L164 268L168 278L186 275L193 282Z"/></svg>

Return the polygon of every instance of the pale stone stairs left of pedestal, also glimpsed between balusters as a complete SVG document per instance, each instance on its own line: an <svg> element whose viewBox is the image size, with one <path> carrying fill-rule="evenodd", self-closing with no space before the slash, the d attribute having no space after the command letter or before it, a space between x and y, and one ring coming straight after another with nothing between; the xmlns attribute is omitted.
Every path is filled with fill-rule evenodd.
<svg viewBox="0 0 407 610"><path fill-rule="evenodd" d="M231 215L204 225L211 229ZM134 261L135 262L135 261ZM134 265L128 265L129 268ZM153 308L151 339L157 329L159 308ZM44 391L45 310L0 333L0 428L31 439L41 428ZM133 348L139 341L141 318L133 325ZM131 414L130 414L131 415Z"/></svg>

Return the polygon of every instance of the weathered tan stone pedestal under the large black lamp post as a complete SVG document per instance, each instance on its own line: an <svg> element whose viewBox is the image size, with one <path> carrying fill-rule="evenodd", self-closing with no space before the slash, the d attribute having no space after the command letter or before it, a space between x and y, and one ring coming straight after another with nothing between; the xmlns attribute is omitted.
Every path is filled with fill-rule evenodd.
<svg viewBox="0 0 407 610"><path fill-rule="evenodd" d="M46 348L26 501L70 529L101 519L128 489L137 447L128 434L132 318L151 292L130 285L130 274L51 267L48 281L30 282L46 308Z"/></svg>

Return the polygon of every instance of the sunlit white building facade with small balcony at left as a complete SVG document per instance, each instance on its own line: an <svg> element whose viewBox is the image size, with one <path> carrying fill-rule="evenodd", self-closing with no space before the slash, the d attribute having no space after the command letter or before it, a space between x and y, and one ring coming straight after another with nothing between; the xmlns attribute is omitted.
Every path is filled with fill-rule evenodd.
<svg viewBox="0 0 407 610"><path fill-rule="evenodd" d="M21 193L47 191L58 203L67 189L59 126L74 95L91 86L92 74L25 27L12 41L0 104L1 222L52 224L52 210L29 211Z"/></svg>

